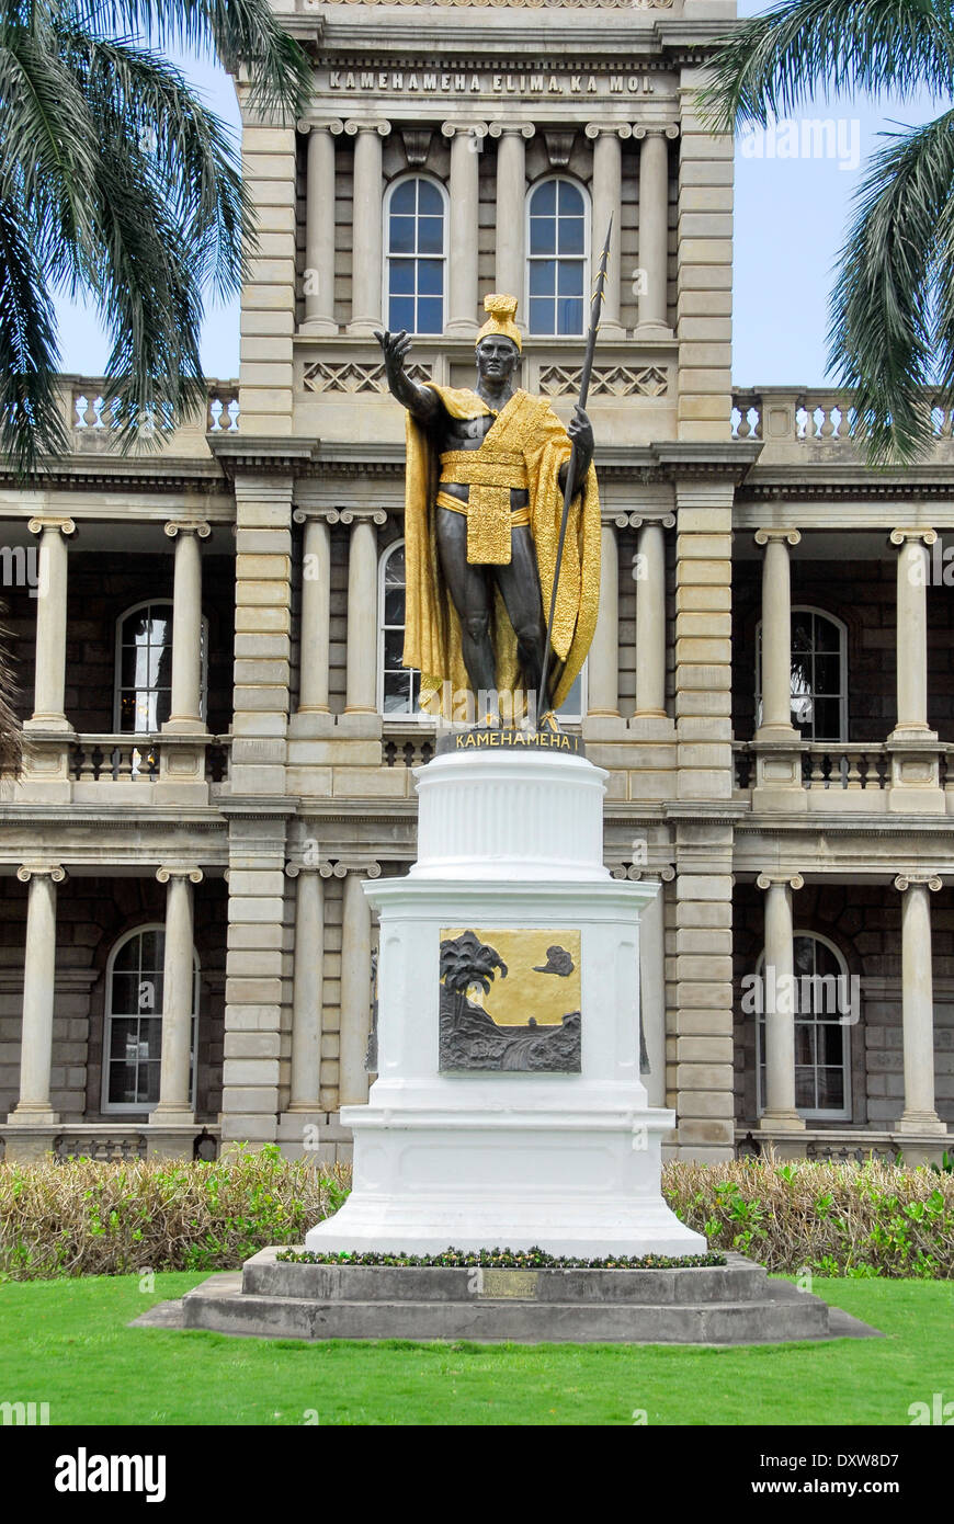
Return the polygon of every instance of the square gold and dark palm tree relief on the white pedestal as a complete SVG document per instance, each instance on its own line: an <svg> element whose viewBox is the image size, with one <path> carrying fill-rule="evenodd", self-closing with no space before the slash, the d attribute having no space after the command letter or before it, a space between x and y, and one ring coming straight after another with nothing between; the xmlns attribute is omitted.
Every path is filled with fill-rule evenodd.
<svg viewBox="0 0 954 1524"><path fill-rule="evenodd" d="M579 933L489 933L509 965L486 936L442 934L440 1068L579 1074Z"/></svg>

